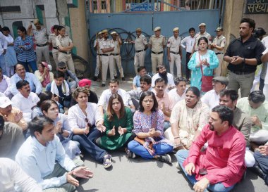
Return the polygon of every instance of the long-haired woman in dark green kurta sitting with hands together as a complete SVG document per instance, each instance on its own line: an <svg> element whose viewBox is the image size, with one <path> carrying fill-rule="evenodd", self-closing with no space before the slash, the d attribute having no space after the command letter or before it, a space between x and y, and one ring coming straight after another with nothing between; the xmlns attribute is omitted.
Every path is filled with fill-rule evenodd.
<svg viewBox="0 0 268 192"><path fill-rule="evenodd" d="M116 150L128 145L133 140L133 117L130 108L124 108L123 99L119 94L109 98L108 108L104 115L106 134L100 139L100 146Z"/></svg>

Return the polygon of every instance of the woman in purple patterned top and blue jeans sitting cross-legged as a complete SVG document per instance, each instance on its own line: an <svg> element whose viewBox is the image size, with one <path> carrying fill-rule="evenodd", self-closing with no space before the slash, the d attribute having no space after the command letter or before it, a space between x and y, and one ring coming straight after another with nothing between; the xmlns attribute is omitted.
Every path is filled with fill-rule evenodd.
<svg viewBox="0 0 268 192"><path fill-rule="evenodd" d="M170 153L173 146L164 139L164 113L158 110L157 98L152 91L145 91L140 96L140 109L133 117L136 137L128 143L128 158L140 155L145 159L157 159L171 163Z"/></svg>

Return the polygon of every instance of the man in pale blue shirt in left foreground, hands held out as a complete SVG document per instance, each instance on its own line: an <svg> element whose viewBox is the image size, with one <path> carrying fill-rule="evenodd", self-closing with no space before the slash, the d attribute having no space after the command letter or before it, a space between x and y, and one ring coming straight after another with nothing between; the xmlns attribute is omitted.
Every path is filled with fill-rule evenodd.
<svg viewBox="0 0 268 192"><path fill-rule="evenodd" d="M66 155L59 137L54 133L54 122L48 117L35 117L29 123L31 136L23 143L16 155L16 162L45 191L75 191L79 181L93 173L81 160L73 162ZM55 164L55 162L57 162Z"/></svg>

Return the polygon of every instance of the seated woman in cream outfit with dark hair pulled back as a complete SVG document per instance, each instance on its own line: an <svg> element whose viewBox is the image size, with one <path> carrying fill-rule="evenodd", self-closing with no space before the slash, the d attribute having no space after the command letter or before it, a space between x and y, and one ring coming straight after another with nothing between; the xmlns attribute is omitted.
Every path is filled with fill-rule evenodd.
<svg viewBox="0 0 268 192"><path fill-rule="evenodd" d="M185 99L178 101L171 111L171 128L164 136L174 143L177 149L190 149L192 142L209 122L209 107L200 100L197 87L189 87Z"/></svg>

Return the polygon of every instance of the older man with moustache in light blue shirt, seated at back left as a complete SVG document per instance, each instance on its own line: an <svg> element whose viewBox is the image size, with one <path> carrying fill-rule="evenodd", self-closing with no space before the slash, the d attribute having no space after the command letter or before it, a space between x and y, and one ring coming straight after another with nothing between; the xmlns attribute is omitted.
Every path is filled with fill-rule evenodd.
<svg viewBox="0 0 268 192"><path fill-rule="evenodd" d="M13 96L18 94L16 83L20 80L25 80L29 82L31 92L34 92L37 95L41 93L41 83L39 82L37 77L35 77L34 74L25 71L23 64L18 63L17 65L15 65L15 72L16 73L11 77L11 94L13 94Z"/></svg>

